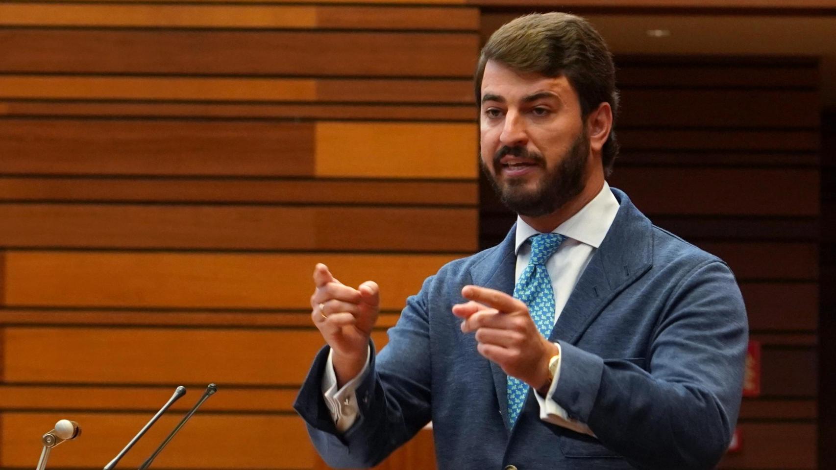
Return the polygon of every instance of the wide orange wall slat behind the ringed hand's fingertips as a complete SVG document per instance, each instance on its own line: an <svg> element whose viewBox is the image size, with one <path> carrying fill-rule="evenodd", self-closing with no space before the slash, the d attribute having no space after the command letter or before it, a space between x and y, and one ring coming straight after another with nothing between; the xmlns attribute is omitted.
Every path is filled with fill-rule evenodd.
<svg viewBox="0 0 836 470"><path fill-rule="evenodd" d="M8 251L8 306L308 309L316 263L344 284L380 284L398 310L458 255L202 254Z"/></svg>

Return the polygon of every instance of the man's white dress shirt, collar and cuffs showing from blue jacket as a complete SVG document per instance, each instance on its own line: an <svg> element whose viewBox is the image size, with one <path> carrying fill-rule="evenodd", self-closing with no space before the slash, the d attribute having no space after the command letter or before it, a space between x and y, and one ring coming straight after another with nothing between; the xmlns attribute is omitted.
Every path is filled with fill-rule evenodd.
<svg viewBox="0 0 836 470"><path fill-rule="evenodd" d="M554 291L554 321L558 321L563 306L566 305L569 295L572 293L575 284L578 283L581 274L584 273L584 269L589 264L595 250L604 241L604 237L609 231L609 226L613 224L618 210L619 202L615 199L612 191L609 190L609 184L604 182L604 186L598 195L589 201L589 204L584 205L575 215L569 217L568 220L553 230L553 233L566 237L557 252L546 261L546 270L552 280ZM528 260L531 259L531 244L525 243L525 241L538 233L531 225L526 224L522 218L517 217L515 280L519 280L520 275L523 274L523 270L528 265ZM329 408L339 432L347 431L357 418L357 397L355 397L354 391L368 370L368 366L369 361L367 359L363 371L360 371L357 377L354 377L337 390L337 377L334 373L331 355L328 356L322 379L322 390L325 405ZM554 380L548 389L549 398L540 397L537 392L534 392L534 397L537 398L540 405L540 419L558 426L568 427L576 432L592 434L589 427L584 423L568 419L566 411L550 398L558 387L559 378L560 366L558 363Z"/></svg>

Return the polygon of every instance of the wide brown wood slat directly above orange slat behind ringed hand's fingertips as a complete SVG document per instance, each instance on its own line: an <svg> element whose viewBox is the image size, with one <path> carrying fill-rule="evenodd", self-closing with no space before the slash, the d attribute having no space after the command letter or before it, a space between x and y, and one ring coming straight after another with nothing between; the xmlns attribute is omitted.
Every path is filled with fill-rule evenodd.
<svg viewBox="0 0 836 470"><path fill-rule="evenodd" d="M5 204L0 245L465 252L477 224L476 208Z"/></svg>

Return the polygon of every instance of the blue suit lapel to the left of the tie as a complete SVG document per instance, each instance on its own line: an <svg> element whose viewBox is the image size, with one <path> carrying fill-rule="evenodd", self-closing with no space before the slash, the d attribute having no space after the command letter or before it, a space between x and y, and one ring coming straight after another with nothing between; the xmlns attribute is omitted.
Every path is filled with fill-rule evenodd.
<svg viewBox="0 0 836 470"><path fill-rule="evenodd" d="M517 267L517 255L514 254L514 240L517 233L517 225L513 225L506 235L505 240L496 246L493 252L484 260L475 265L471 270L471 278L476 286L483 286L489 289L506 292L509 296L513 294L514 272ZM486 359L487 361L487 359ZM493 387L497 392L497 405L505 422L506 430L510 429L508 422L508 391L507 374L502 371L493 361L487 361L491 366L493 376Z"/></svg>

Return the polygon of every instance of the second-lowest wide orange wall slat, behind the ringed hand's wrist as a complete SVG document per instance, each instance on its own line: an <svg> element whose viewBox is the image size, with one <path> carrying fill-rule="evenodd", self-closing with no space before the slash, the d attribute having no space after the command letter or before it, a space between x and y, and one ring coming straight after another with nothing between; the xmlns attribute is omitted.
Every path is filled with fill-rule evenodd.
<svg viewBox="0 0 836 470"><path fill-rule="evenodd" d="M378 348L387 341L384 331L373 332L372 339ZM324 344L314 326L295 331L9 326L3 336L3 380L296 385ZM33 363L55 345L60 354Z"/></svg>

